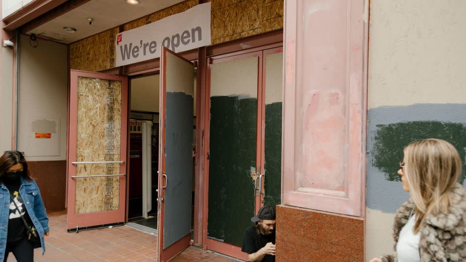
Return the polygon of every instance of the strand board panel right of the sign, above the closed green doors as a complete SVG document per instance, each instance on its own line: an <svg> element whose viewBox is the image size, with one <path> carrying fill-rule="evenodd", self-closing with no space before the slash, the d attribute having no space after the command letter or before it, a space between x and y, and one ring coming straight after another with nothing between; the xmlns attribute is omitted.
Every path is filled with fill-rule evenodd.
<svg viewBox="0 0 466 262"><path fill-rule="evenodd" d="M210 0L212 45L283 28L283 0Z"/></svg>

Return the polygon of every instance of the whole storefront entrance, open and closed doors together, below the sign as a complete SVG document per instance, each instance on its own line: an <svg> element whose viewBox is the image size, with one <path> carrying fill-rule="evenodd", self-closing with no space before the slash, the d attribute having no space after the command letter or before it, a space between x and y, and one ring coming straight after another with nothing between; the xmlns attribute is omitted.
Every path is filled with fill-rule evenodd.
<svg viewBox="0 0 466 262"><path fill-rule="evenodd" d="M264 204L274 206L281 199L282 44L205 58L208 65L200 69L205 75L197 75L195 64L181 55L165 48L162 52L160 62L152 69L145 69L143 74L128 73L138 78L147 74L160 76L158 159L146 159L143 165L144 168L147 161L158 162L157 167L152 165L156 177L151 177L157 180L156 198L149 207L149 196L146 196L143 204L148 208L141 215L132 216L157 218L158 244L154 250L158 250L159 261L167 261L195 241L193 235L198 233L193 232L196 229L193 207L198 205L202 215L198 217L201 224L197 229L202 232L202 246L245 260L246 254L240 246L244 230L252 225L250 217ZM82 71L73 74L76 76L71 78L67 228L79 231L123 225L131 218L131 206L140 205L131 203L137 202L131 194L134 193L132 186L145 188L132 182L135 171L131 171L131 161L137 157L136 151L147 151L147 148L135 148L135 142L130 139L128 90L132 87L128 87L126 77ZM201 99L195 98L194 83L199 82L198 78L206 81L205 91L201 93L206 98L208 111L199 115L204 120L195 121L203 123L196 135L194 103ZM116 83L123 91L117 91ZM86 107L86 103L93 106ZM81 116L85 116L83 120ZM195 137L201 142L194 143ZM87 149L80 149L73 141L83 143ZM204 149L193 150L194 145L203 145ZM203 153L198 154L198 149ZM197 171L196 177L193 176L196 163L193 154L203 158L205 164L203 173ZM141 179L146 181L146 187L147 178L146 175L146 179ZM204 196L199 203L194 201L194 188L199 188L199 184L193 185L198 180L204 184L198 193ZM110 198L105 192L119 197L112 202L113 206L105 205ZM148 191L143 193L141 201L145 194ZM87 210L88 198L103 208ZM87 209L78 210L78 203L81 206L85 203ZM105 220L107 214L113 220Z"/></svg>

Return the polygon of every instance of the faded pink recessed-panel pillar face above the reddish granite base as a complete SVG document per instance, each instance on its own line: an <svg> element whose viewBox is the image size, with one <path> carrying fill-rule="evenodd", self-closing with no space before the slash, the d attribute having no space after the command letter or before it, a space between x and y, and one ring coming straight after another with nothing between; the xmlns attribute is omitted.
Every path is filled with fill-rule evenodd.
<svg viewBox="0 0 466 262"><path fill-rule="evenodd" d="M285 205L364 216L366 3L286 1Z"/></svg>

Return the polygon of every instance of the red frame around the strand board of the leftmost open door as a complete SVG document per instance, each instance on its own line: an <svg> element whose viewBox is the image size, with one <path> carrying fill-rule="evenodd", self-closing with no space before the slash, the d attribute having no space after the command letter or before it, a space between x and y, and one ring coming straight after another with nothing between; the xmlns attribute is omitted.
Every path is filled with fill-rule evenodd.
<svg viewBox="0 0 466 262"><path fill-rule="evenodd" d="M67 178L68 178L68 204L67 204L67 229L76 229L76 225L80 228L92 227L98 225L107 225L120 223L125 221L126 217L126 175L121 176L119 180L119 208L116 211L103 211L93 213L75 214L75 194L76 194L76 179L71 176L76 175L76 165L72 162L76 161L77 149L77 117L78 117L78 77L98 78L105 80L121 81L121 107L128 106L128 79L124 76L108 75L102 73L86 72L79 70L70 71L70 101L69 101L69 149L67 161ZM127 110L121 110L121 131L120 131L120 164L119 174L126 174L127 167Z"/></svg>

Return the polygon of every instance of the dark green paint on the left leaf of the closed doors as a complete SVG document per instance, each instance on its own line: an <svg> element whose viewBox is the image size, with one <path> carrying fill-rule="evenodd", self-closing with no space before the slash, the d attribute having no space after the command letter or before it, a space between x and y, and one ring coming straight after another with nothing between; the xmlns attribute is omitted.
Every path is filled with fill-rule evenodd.
<svg viewBox="0 0 466 262"><path fill-rule="evenodd" d="M254 216L257 99L212 97L207 236L241 246Z"/></svg>

